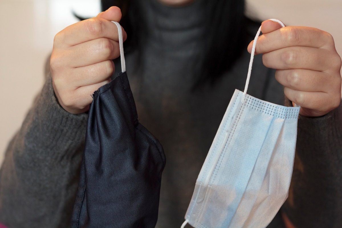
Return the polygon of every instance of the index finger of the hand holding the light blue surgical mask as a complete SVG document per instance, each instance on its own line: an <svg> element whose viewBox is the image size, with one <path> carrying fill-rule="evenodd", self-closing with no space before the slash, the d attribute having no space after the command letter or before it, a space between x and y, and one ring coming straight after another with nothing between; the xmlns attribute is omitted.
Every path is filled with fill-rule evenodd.
<svg viewBox="0 0 342 228"><path fill-rule="evenodd" d="M326 48L329 50L331 44L333 44L333 39L328 32L317 28L287 26L261 35L257 41L255 54L267 53L290 46Z"/></svg>

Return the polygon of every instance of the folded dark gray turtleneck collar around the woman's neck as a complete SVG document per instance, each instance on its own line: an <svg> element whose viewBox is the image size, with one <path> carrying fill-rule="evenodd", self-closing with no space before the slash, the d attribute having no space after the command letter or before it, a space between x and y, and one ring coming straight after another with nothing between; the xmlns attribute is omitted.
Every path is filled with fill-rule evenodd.
<svg viewBox="0 0 342 228"><path fill-rule="evenodd" d="M168 6L158 0L139 1L145 19L146 45L165 55L190 57L205 35L205 1ZM195 52L195 53L194 53Z"/></svg>

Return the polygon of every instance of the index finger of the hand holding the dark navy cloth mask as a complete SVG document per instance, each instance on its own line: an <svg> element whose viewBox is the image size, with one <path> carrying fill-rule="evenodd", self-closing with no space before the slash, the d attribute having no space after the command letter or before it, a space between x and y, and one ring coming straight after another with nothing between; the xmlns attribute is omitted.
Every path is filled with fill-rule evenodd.
<svg viewBox="0 0 342 228"><path fill-rule="evenodd" d="M122 29L123 40L126 40L126 32ZM55 41L63 45L74 46L98 38L108 38L119 41L118 28L113 22L106 19L93 17L70 25L57 33ZM54 42L55 43L55 42Z"/></svg>

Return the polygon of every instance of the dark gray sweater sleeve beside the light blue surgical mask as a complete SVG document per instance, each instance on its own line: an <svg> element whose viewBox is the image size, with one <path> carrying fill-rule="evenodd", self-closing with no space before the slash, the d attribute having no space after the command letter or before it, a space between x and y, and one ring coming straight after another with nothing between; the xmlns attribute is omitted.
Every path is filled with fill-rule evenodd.
<svg viewBox="0 0 342 228"><path fill-rule="evenodd" d="M300 117L289 197L296 227L342 227L342 103L323 117Z"/></svg>

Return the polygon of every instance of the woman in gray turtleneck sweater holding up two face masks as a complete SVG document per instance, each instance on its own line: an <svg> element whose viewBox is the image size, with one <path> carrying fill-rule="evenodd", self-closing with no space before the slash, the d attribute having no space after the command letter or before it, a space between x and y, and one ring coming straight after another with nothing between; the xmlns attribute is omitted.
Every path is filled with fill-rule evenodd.
<svg viewBox="0 0 342 228"><path fill-rule="evenodd" d="M114 4L122 8L139 119L160 140L167 157L156 227L178 227L234 89L245 84L250 57L245 48L250 51L248 43L259 25L244 17L241 1L102 3L104 9ZM119 50L110 21L120 19L120 10L113 7L56 35L51 77L1 168L3 224L69 225L90 95L119 66L111 61ZM262 32L257 53L264 55L256 56L248 93L278 104L285 93L302 107L290 196L283 216L279 213L270 227L283 226L283 218L288 227L288 220L296 227L340 227L341 59L331 36L318 29L280 29L265 21Z"/></svg>

